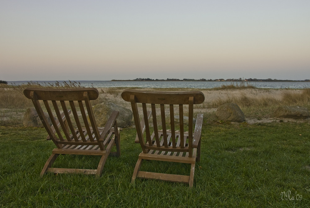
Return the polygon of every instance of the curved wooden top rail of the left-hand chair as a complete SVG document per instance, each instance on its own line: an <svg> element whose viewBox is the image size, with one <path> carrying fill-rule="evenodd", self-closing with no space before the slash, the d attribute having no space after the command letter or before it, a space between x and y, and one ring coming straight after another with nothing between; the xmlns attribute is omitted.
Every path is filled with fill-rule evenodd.
<svg viewBox="0 0 310 208"><path fill-rule="evenodd" d="M88 93L89 100L95 100L99 92L95 88L73 88L73 89L49 89L49 88L26 88L24 95L31 99L31 91L34 91L38 100L84 100L84 93ZM74 92L74 93L70 93Z"/></svg>

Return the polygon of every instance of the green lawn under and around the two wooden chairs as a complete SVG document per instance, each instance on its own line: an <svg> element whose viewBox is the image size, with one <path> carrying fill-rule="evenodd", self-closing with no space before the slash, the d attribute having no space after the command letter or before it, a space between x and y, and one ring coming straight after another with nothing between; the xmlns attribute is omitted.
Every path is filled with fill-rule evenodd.
<svg viewBox="0 0 310 208"><path fill-rule="evenodd" d="M204 123L201 162L188 184L136 179L135 129L121 132L120 158L102 176L40 171L55 145L43 128L0 128L2 207L308 207L309 123ZM96 168L97 156L59 156L58 167ZM187 174L186 164L144 162L144 170ZM283 192L291 192L290 199ZM282 193L282 195L281 195ZM296 196L302 196L296 200ZM284 200L282 200L282 198Z"/></svg>

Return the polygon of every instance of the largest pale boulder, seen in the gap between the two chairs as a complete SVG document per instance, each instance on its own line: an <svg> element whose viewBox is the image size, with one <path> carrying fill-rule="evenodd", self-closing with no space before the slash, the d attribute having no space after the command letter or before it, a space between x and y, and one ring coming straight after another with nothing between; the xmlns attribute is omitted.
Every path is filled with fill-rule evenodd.
<svg viewBox="0 0 310 208"><path fill-rule="evenodd" d="M112 111L119 111L119 115L117 117L118 127L124 128L131 125L132 121L131 110L124 108L122 106L118 106L114 103L103 102L93 106L93 112L98 127L104 127Z"/></svg>

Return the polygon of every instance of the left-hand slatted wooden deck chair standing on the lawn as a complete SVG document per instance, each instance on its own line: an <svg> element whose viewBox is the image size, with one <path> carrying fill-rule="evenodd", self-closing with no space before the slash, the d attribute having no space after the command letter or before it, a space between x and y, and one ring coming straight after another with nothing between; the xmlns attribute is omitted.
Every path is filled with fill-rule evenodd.
<svg viewBox="0 0 310 208"><path fill-rule="evenodd" d="M119 112L112 112L104 128L97 127L90 102L98 98L97 89L26 88L24 95L32 100L48 133L47 140L52 140L57 147L45 163L41 176L45 172L53 172L100 177L108 155L120 156L120 129L116 122ZM70 116L71 113L73 115ZM114 145L116 152L111 152ZM95 170L52 168L59 154L100 155L101 159Z"/></svg>

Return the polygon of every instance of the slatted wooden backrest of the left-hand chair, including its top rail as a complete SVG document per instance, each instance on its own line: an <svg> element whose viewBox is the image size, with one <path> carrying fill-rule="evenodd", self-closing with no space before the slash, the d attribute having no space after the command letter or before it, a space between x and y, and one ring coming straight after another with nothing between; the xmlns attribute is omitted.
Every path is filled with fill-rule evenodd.
<svg viewBox="0 0 310 208"><path fill-rule="evenodd" d="M48 138L58 148L64 145L89 145L92 142L104 150L104 145L99 142L100 133L90 102L98 98L97 89L26 88L24 95L32 100ZM71 112L73 118L69 115Z"/></svg>

